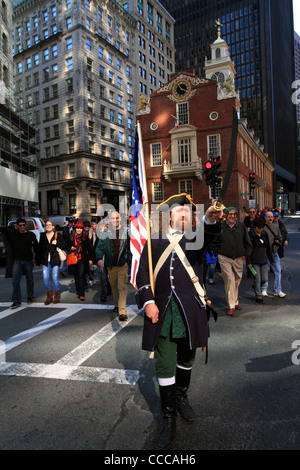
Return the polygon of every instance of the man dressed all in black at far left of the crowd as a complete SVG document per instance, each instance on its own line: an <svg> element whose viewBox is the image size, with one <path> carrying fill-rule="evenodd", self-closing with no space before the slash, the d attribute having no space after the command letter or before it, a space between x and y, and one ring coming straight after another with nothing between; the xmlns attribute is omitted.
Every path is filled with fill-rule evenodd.
<svg viewBox="0 0 300 470"><path fill-rule="evenodd" d="M26 220L20 218L16 222L16 229L2 229L11 244L14 265L12 273L13 292L12 292L12 305L11 309L17 308L21 305L21 279L22 275L26 276L27 283L27 303L32 303L34 299L34 282L33 282L33 265L39 266L39 249L36 236L33 232L26 230ZM33 259L33 252L35 259Z"/></svg>

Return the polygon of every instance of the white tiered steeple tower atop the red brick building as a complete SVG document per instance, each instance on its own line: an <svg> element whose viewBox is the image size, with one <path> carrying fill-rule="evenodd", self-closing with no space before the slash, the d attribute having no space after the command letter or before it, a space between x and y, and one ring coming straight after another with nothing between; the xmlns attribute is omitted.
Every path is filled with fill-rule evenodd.
<svg viewBox="0 0 300 470"><path fill-rule="evenodd" d="M235 90L236 70L229 55L228 44L221 38L221 22L216 21L218 27L218 38L211 44L211 60L205 58L205 77L218 83L218 100L227 98L238 98L239 93Z"/></svg>

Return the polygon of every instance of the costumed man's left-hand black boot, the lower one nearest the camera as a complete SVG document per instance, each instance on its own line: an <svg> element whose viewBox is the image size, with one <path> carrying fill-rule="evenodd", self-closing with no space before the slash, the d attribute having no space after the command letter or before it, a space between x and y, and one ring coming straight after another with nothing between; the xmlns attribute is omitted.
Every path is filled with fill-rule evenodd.
<svg viewBox="0 0 300 470"><path fill-rule="evenodd" d="M176 385L160 385L159 393L164 424L157 447L166 449L173 441L176 431Z"/></svg>

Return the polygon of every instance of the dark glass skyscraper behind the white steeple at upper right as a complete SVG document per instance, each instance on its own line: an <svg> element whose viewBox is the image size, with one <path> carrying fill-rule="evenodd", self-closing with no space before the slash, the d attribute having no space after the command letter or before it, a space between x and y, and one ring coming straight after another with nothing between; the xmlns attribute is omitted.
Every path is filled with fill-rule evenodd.
<svg viewBox="0 0 300 470"><path fill-rule="evenodd" d="M296 107L292 1L161 0L175 19L176 71L204 75L205 57L222 23L237 71L243 117L275 166L274 190L289 194L297 185ZM274 203L276 201L274 200Z"/></svg>

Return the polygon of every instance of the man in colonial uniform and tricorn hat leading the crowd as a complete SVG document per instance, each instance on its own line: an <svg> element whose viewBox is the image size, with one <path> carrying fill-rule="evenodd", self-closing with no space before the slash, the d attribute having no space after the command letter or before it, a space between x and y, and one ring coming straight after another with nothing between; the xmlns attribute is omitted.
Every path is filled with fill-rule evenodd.
<svg viewBox="0 0 300 470"><path fill-rule="evenodd" d="M203 260L205 246L219 231L215 222L221 215L213 207L206 212L207 224L201 247L195 243L197 232L194 240L187 238L186 229L192 221L191 207L196 210L190 197L176 195L164 204L171 209L170 227L166 236L160 233L159 237L153 236L151 240L155 292L150 286L146 244L137 273L136 293L138 307L145 308L142 347L155 350L164 418L159 448L168 447L174 438L177 411L187 421L194 419L187 390L196 348L206 347L209 336L203 291ZM174 204L177 206L174 207ZM202 225L199 230L203 230ZM191 240L196 249L193 249Z"/></svg>

